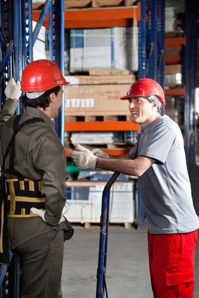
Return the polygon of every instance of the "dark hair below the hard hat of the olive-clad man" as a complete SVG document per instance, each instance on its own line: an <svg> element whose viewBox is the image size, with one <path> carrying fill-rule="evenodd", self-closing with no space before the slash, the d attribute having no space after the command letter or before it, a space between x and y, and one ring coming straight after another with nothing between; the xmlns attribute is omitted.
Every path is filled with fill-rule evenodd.
<svg viewBox="0 0 199 298"><path fill-rule="evenodd" d="M21 97L21 102L23 104L23 107L31 107L31 108L43 108L44 111L47 107L49 107L51 100L50 100L50 94L51 93L55 93L55 95L57 96L57 94L59 93L59 91L61 90L60 86L54 87L50 90L45 91L42 95L40 95L37 98L27 98L26 94L24 94Z"/></svg>

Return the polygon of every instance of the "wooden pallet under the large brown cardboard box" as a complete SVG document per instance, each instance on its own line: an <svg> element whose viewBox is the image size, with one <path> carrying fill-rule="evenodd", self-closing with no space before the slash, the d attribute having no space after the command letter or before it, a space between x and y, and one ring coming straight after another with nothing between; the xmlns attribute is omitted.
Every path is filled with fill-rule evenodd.
<svg viewBox="0 0 199 298"><path fill-rule="evenodd" d="M66 122L114 122L114 121L130 121L131 115L123 116L65 116Z"/></svg>

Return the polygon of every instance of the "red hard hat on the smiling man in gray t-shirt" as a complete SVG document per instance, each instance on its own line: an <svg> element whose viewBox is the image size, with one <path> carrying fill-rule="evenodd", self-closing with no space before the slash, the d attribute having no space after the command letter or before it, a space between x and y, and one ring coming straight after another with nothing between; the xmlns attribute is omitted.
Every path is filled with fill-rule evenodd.
<svg viewBox="0 0 199 298"><path fill-rule="evenodd" d="M123 96L120 99L129 99L131 97L142 97L150 95L157 96L160 102L162 103L162 107L165 106L164 91L161 85L151 78L138 79L136 82L132 84L126 96Z"/></svg>

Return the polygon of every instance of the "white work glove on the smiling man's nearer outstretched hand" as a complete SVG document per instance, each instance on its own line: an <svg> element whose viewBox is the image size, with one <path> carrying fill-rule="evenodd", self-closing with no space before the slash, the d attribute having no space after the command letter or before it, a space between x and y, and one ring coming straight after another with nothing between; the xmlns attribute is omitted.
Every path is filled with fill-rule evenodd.
<svg viewBox="0 0 199 298"><path fill-rule="evenodd" d="M79 168L96 168L99 156L94 155L89 149L86 149L79 144L76 145L76 149L78 149L79 151L68 150L68 153L71 154L71 157Z"/></svg>

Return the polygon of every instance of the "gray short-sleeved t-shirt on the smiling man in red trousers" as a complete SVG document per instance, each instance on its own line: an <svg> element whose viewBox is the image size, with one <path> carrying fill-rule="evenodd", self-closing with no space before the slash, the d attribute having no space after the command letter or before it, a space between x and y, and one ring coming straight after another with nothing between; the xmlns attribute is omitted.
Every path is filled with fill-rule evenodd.
<svg viewBox="0 0 199 298"><path fill-rule="evenodd" d="M142 202L152 234L188 233L199 228L192 200L184 141L168 116L147 125L129 157L156 162L139 177Z"/></svg>

